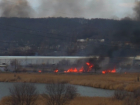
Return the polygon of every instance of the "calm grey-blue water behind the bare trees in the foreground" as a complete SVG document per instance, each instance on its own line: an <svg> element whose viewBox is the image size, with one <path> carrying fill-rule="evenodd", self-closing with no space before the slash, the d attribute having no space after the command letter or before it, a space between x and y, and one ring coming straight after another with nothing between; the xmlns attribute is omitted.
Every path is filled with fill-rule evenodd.
<svg viewBox="0 0 140 105"><path fill-rule="evenodd" d="M9 96L9 88L13 86L13 84L17 83L5 83L0 82L0 99L4 96ZM45 92L45 86L46 84L38 84L34 83L37 91L42 94ZM114 90L106 90L106 89L97 89L87 86L79 86L79 85L73 85L77 88L78 94L80 96L88 96L88 97L111 97L114 94Z"/></svg>

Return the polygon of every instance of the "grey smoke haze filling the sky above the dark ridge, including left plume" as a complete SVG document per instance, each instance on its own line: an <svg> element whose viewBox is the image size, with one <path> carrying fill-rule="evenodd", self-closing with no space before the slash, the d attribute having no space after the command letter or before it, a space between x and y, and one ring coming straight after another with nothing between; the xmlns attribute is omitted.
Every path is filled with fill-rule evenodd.
<svg viewBox="0 0 140 105"><path fill-rule="evenodd" d="M134 4L133 0L0 0L0 12L2 17L118 19L133 17Z"/></svg>

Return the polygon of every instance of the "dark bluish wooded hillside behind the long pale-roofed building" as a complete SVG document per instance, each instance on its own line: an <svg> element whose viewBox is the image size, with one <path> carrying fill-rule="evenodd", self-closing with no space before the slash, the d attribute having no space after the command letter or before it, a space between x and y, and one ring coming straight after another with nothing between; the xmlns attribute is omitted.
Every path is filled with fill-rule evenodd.
<svg viewBox="0 0 140 105"><path fill-rule="evenodd" d="M81 50L86 50L81 55L104 52L101 55L108 56L110 50L121 49L119 44L131 50L128 55L133 55L135 47L140 45L139 34L140 22L131 20L0 18L0 55L35 55L36 52L39 55L80 55ZM77 39L87 38L94 41L77 42ZM99 43L97 39L105 42ZM99 51L101 47L105 49Z"/></svg>

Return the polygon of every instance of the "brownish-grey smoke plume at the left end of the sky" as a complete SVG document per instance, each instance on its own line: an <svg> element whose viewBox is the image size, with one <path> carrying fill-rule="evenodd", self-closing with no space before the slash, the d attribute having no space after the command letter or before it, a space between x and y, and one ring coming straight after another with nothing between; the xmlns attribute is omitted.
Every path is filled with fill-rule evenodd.
<svg viewBox="0 0 140 105"><path fill-rule="evenodd" d="M2 0L1 17L33 17L34 11L27 0Z"/></svg>

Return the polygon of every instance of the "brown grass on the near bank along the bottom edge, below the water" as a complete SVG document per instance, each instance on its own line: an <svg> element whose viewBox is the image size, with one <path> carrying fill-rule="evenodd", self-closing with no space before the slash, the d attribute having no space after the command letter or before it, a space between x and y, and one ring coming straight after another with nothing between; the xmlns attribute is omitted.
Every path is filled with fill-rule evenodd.
<svg viewBox="0 0 140 105"><path fill-rule="evenodd" d="M9 105L10 102L10 97L4 97L0 101L0 105ZM39 96L35 104L46 105L45 102L45 99ZM123 101L105 97L76 97L69 105L123 105Z"/></svg>

